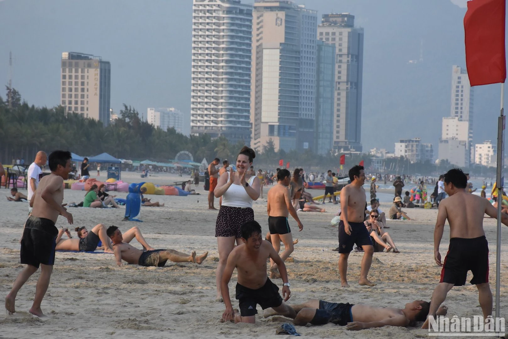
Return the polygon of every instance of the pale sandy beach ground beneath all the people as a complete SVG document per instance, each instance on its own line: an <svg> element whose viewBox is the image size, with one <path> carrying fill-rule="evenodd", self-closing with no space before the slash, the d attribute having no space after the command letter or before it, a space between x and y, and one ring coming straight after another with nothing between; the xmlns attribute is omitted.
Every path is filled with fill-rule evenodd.
<svg viewBox="0 0 508 339"><path fill-rule="evenodd" d="M104 173L104 172L103 172ZM92 173L92 177L93 174ZM105 173L104 173L105 174ZM156 174L141 180L139 173L123 172L128 182L151 181L156 184L173 184L186 177ZM102 176L99 179L104 180ZM193 185L194 186L194 185ZM25 190L20 192L26 194ZM16 299L16 314L0 316L2 338L233 338L278 337L275 328L282 323L264 319L258 306L256 325L220 323L224 304L215 302L215 269L218 261L214 237L218 211L207 209L207 193L203 184L197 189L199 196L147 196L152 201L164 202L164 207L143 207L139 218L143 223L122 222L124 209L69 208L74 216L74 227L86 226L88 230L98 223L106 227L115 225L125 232L139 226L148 243L154 248L174 249L199 254L209 251L202 265L193 263L165 267L118 267L111 254L56 253L51 283L42 303L42 310L49 319L41 321L28 314L35 294L39 272L23 286ZM322 194L322 191L317 191ZM316 191L312 194L319 195ZM0 189L9 194L9 190ZM256 220L263 231L268 230L265 199L254 203ZM64 202L80 202L85 192L65 190ZM113 193L114 194L114 193ZM118 193L124 198L126 193ZM215 200L218 207L218 199ZM388 211L390 202L382 203ZM304 225L297 232L296 223L290 218L295 245L292 259L287 262L291 282L289 303L301 303L309 298L333 302L369 303L378 306L403 308L415 299L430 300L439 281L440 268L433 259L433 230L436 209L404 209L414 221L389 221L388 229L400 254L374 253L369 279L377 283L373 288L357 284L360 273L361 253L352 252L349 259L348 281L351 288L340 287L337 268L337 228L330 226L338 205L326 204L327 213L299 212ZM0 291L5 297L23 265L19 263L19 238L27 218L28 203L9 202L0 199ZM490 248L490 283L494 292L496 266L496 221L485 219L485 232ZM66 227L59 218L58 228ZM73 236L76 233L72 232ZM440 252L447 252L448 227L444 231ZM133 240L134 246L141 245ZM469 281L471 273L468 274ZM501 317L508 316L508 229L502 226L501 251ZM282 282L275 283L281 287ZM234 307L236 271L230 283ZM444 302L449 315L467 317L481 315L478 292L466 283L454 288ZM297 327L307 338L347 337L406 339L427 336L419 328L382 327L362 331L346 331L333 324Z"/></svg>

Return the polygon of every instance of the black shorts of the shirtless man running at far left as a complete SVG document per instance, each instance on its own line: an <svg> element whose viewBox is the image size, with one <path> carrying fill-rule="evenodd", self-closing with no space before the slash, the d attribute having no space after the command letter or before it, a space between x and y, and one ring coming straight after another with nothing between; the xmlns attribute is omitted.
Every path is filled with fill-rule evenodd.
<svg viewBox="0 0 508 339"><path fill-rule="evenodd" d="M55 263L58 229L49 219L28 217L21 238L21 263L39 268Z"/></svg>

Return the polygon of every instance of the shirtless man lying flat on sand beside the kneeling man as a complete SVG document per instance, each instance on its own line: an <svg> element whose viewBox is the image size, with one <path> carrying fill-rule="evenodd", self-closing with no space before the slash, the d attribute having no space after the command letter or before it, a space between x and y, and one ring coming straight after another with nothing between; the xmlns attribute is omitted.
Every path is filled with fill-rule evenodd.
<svg viewBox="0 0 508 339"><path fill-rule="evenodd" d="M411 326L417 321L425 321L429 314L430 303L423 300L415 300L405 305L404 309L395 307L376 307L372 305L352 305L350 303L335 303L324 300L310 299L299 305L291 306L295 310L296 317L293 323L305 326L324 325L333 323L346 326L348 330L359 330L383 326ZM447 314L448 307L441 306L437 315ZM273 309L263 312L263 317L281 315ZM282 320L277 317L273 320Z"/></svg>

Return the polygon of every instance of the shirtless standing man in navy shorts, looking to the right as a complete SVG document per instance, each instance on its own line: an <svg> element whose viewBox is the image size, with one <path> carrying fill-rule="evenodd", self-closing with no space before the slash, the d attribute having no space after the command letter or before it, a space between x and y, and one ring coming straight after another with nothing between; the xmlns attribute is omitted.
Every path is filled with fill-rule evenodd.
<svg viewBox="0 0 508 339"><path fill-rule="evenodd" d="M349 170L351 183L340 192L340 222L339 222L339 273L342 287L347 284L347 258L353 251L353 244L363 247L362 269L360 271L360 285L375 286L367 279L367 273L372 263L374 247L370 241L369 232L365 228L365 172L363 166L354 166Z"/></svg>

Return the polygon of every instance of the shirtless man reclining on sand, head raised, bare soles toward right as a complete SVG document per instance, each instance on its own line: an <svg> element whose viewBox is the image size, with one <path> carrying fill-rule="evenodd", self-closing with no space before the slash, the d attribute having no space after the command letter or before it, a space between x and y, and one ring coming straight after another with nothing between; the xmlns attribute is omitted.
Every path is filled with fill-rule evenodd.
<svg viewBox="0 0 508 339"><path fill-rule="evenodd" d="M196 251L191 255L175 250L151 250L145 252L123 242L122 232L120 232L118 227L108 227L107 233L113 242L113 250L118 266L122 266L122 260L140 266L163 267L168 260L172 262L195 262L201 265L208 255L208 252L205 252L199 257L196 257Z"/></svg>

